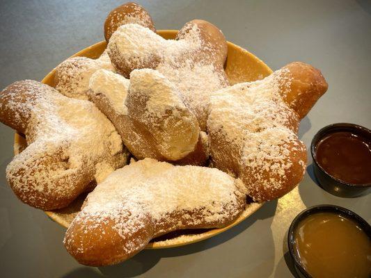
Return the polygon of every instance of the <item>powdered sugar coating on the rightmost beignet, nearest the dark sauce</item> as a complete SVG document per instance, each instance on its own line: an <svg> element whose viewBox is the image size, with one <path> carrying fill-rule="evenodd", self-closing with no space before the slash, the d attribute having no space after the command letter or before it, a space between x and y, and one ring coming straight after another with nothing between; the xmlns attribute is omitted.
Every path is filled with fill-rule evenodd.
<svg viewBox="0 0 371 278"><path fill-rule="evenodd" d="M216 165L223 164L226 153L213 146L221 144L222 138L223 144L232 146L232 161L250 189L282 188L286 172L293 165L292 152L305 149L295 134L299 118L283 102L290 88L289 76L287 70L278 70L262 81L239 83L211 97L207 126L214 138L212 157ZM255 199L260 199L256 194Z"/></svg>

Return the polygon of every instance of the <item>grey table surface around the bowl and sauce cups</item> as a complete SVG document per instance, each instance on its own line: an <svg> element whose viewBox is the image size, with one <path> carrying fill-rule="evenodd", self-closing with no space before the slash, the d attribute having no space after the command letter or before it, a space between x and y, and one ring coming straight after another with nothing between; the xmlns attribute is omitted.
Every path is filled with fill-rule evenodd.
<svg viewBox="0 0 371 278"><path fill-rule="evenodd" d="M19 79L41 80L68 56L103 40L104 19L121 3L0 1L0 88ZM370 1L139 3L150 11L158 29L178 29L191 19L206 19L274 70L294 60L322 70L329 90L299 131L307 147L327 124L371 127ZM308 156L301 184L237 227L193 245L145 250L119 265L89 268L65 251L65 229L19 202L10 190L5 170L13 158L13 136L13 130L0 125L1 277L293 277L285 238L290 222L304 208L336 204L371 222L371 195L342 199L326 193L314 181Z"/></svg>

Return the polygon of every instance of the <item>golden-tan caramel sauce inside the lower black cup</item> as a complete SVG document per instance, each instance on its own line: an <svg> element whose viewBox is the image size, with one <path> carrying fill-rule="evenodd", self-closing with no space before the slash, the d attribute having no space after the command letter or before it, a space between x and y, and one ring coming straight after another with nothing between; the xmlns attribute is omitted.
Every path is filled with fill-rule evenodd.
<svg viewBox="0 0 371 278"><path fill-rule="evenodd" d="M301 220L294 252L314 278L371 277L371 240L343 215L314 213Z"/></svg>

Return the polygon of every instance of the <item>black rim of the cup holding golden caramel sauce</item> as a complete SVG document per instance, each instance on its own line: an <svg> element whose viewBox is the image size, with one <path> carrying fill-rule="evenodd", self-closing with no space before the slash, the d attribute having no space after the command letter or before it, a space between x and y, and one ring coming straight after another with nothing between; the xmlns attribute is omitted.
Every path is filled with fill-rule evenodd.
<svg viewBox="0 0 371 278"><path fill-rule="evenodd" d="M330 212L330 213L339 213L341 215L346 215L349 219L354 220L354 222L361 224L361 227L368 238L371 239L371 226L368 222L361 218L360 215L355 213L354 211L349 210L348 208L344 208L342 206L336 206L333 204L318 204L315 206L310 206L309 208L304 209L301 211L295 218L292 220L290 224L290 228L287 232L287 245L290 252L290 256L294 261L294 265L296 268L299 269L301 274L305 278L313 278L301 265L301 260L297 257L294 252L294 232L297 227L297 224L301 222L301 220L308 217L308 215L313 215L315 213L322 213L322 212Z"/></svg>

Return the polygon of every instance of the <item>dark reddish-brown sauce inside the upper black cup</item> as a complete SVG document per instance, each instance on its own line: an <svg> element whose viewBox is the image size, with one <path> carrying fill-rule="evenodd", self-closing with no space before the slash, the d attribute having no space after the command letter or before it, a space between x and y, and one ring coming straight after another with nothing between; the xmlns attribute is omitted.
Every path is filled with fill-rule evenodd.
<svg viewBox="0 0 371 278"><path fill-rule="evenodd" d="M371 183L371 142L343 131L317 143L317 163L331 176L353 184Z"/></svg>

